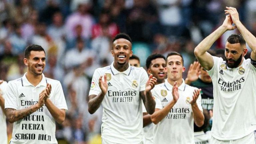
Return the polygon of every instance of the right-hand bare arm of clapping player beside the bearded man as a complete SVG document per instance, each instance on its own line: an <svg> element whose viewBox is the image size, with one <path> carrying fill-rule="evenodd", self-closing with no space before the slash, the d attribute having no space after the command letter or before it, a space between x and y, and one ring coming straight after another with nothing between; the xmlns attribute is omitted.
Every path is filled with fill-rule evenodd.
<svg viewBox="0 0 256 144"><path fill-rule="evenodd" d="M203 112L200 111L200 109L198 108L198 105L196 103L196 100L200 94L201 89L197 89L195 90L193 93L193 100L190 102L191 107L192 107L192 112L193 112L193 118L194 118L194 122L198 127L201 127L204 124L204 115Z"/></svg>

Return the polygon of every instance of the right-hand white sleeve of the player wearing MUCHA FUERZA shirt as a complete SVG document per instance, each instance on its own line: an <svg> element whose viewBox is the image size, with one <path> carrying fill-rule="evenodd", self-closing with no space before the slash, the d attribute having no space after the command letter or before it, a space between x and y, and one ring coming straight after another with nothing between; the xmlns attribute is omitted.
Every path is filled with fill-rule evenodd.
<svg viewBox="0 0 256 144"><path fill-rule="evenodd" d="M61 83L58 81L54 94L54 105L59 109L68 109Z"/></svg>

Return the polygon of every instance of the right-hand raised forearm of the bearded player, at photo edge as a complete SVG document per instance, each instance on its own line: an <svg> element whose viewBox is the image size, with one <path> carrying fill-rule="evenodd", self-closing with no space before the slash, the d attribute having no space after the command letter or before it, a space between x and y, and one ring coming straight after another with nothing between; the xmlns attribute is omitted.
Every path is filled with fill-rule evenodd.
<svg viewBox="0 0 256 144"><path fill-rule="evenodd" d="M256 38L255 36L249 32L245 26L239 21L236 22L236 27L239 32L242 34L244 40L248 44L248 46L252 49L252 51L256 54Z"/></svg>

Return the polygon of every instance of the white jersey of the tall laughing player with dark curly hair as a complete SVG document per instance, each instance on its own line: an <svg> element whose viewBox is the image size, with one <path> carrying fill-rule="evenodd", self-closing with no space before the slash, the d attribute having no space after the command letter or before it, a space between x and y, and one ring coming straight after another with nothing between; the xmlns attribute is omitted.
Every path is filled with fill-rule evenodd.
<svg viewBox="0 0 256 144"><path fill-rule="evenodd" d="M142 142L143 102L139 92L145 90L147 72L143 68L131 67L130 64L124 72L117 71L113 63L98 68L93 74L89 95L98 95L101 92L99 77L104 74L107 75L108 91L101 103L101 137L120 144Z"/></svg>

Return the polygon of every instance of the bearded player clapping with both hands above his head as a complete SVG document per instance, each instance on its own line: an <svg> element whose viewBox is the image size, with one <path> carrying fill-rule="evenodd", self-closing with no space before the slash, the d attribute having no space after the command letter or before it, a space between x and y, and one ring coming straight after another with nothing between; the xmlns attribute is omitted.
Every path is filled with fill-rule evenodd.
<svg viewBox="0 0 256 144"><path fill-rule="evenodd" d="M206 37L194 50L201 66L213 82L213 125L211 143L254 144L256 130L256 38L243 26L238 12L226 7L223 24ZM233 26L234 24L235 26ZM238 29L229 36L225 58L213 57L206 51L226 31ZM246 42L252 49L245 60Z"/></svg>

